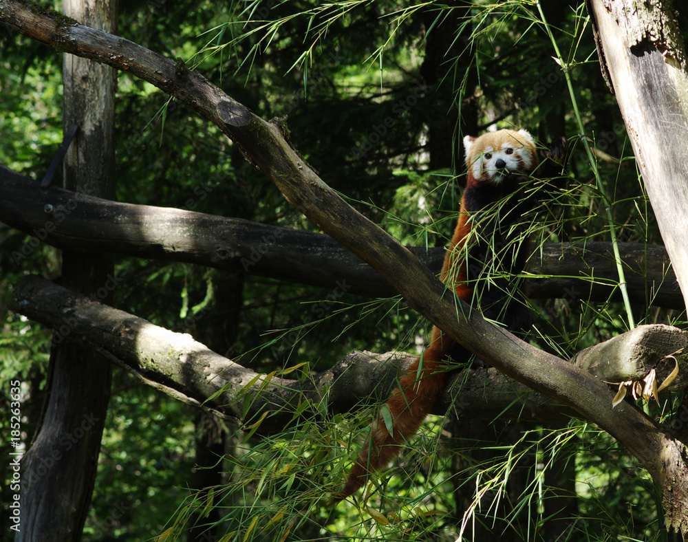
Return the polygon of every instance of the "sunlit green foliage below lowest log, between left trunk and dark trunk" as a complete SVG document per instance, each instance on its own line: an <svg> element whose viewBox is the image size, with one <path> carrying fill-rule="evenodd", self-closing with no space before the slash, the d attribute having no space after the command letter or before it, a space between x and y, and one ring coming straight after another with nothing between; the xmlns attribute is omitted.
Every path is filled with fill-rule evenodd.
<svg viewBox="0 0 688 542"><path fill-rule="evenodd" d="M114 380L114 389L125 391L109 403L85 541L162 532L195 464L194 410L122 373Z"/></svg>

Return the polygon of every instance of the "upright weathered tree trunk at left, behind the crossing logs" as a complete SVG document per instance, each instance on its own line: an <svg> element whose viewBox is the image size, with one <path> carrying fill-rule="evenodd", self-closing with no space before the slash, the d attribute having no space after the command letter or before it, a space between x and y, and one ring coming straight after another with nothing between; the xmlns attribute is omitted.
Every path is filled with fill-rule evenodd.
<svg viewBox="0 0 688 542"><path fill-rule="evenodd" d="M115 30L111 3L66 0L65 14ZM65 188L114 199L116 71L65 54L64 129L78 124L65 157ZM111 258L63 253L63 284L91 294L113 271ZM108 299L109 298L109 299ZM106 303L110 302L108 292ZM53 338L47 407L41 429L23 458L23 518L18 541L78 541L96 479L100 438L110 393L110 364L100 354Z"/></svg>

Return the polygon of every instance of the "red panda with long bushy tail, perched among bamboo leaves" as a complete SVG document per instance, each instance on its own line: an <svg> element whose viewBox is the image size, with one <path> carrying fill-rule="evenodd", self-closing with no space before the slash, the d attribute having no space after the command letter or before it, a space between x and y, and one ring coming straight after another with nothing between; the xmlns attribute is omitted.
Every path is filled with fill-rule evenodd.
<svg viewBox="0 0 688 542"><path fill-rule="evenodd" d="M565 146L566 140L562 138L560 144ZM479 138L466 135L464 147L466 188L440 279L466 303L475 306L473 301L479 300L486 318L512 332L526 332L530 312L517 276L524 270L528 236L526 226L519 223L535 202L519 193L519 188L540 163L535 141L525 130L499 130ZM562 158L565 153L561 147L552 147L544 156ZM477 282L484 274L490 279ZM391 433L380 415L336 501L353 495L370 473L394 459L400 446L418 431L444 388L446 358L467 362L471 352L433 327L429 346L387 400Z"/></svg>

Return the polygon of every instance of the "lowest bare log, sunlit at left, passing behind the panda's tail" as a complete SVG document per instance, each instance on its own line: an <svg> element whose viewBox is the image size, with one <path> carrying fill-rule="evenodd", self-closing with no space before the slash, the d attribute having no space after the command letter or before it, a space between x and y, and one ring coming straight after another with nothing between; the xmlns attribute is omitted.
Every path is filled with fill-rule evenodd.
<svg viewBox="0 0 688 542"><path fill-rule="evenodd" d="M321 410L316 405L323 400L327 409L336 413L350 411L364 400L383 399L416 358L403 352L352 352L308 382L277 376L266 382L258 373L215 354L188 334L173 333L40 277L26 277L17 283L10 307L55 329L60 342L72 341L96 351L145 384L240 426L251 426L270 412L255 427L262 435L285 429L304 400L314 405L312 415L318 416ZM676 355L685 372L688 354L677 353L685 345L687 332L662 325L641 326L581 351L574 362L597 378L602 377L594 371L603 367L603 378L611 382L642 380L669 354ZM654 364L638 364L633 373L627 370L624 356L611 358L610 351L651 351ZM610 360L618 360L619 373L608 366ZM668 365L671 370L674 362ZM679 382L685 387L685 380L676 380L675 387ZM251 395L250 408L244 410L247 393ZM449 412L468 420L499 417L539 422L563 422L577 415L496 369L471 369L453 376L433 412Z"/></svg>

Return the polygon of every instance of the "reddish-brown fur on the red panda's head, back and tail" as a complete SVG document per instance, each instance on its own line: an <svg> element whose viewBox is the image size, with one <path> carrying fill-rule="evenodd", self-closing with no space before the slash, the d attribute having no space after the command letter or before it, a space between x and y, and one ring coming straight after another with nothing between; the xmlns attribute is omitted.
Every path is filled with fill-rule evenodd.
<svg viewBox="0 0 688 542"><path fill-rule="evenodd" d="M518 136L516 132L506 132L497 132L497 134L492 135L491 140L501 144L505 137L513 141L513 138ZM518 137L522 141L522 137ZM499 138L502 139L500 140ZM530 138L529 135L528 138ZM470 142L473 142L473 140L475 138L471 138ZM476 147L478 146L476 145ZM529 153L532 159L532 164L529 168L532 171L538 163L535 147L534 145L531 147L531 144L527 144L522 148L526 149L526 152ZM477 152L480 153L482 151L477 149ZM480 156L473 156L473 160L479 158ZM440 279L444 283L447 283L450 278L452 279L450 286L453 286L460 299L468 303L471 303L473 288L466 282L466 259L459 255L460 248L464 246L471 232L471 223L469 223L468 218L469 210L472 209L469 209L470 204L466 196L471 193L471 189L479 184L494 182L489 178L489 175L485 174L480 179L475 179L471 169L473 160L471 160L471 156L466 157L466 162L469 166L466 189L461 201L458 222L449 250L447 250L447 254L444 257L444 265L440 274ZM530 173L530 171L520 171L519 173ZM361 455L359 455L352 466L344 488L336 495L336 500L353 495L358 488L365 484L370 473L391 462L398 454L400 446L418 431L420 424L427 417L444 388L447 372L443 358L447 356L449 349L454 344L454 341L447 334L442 333L438 327L433 327L429 346L413 362L413 365L409 367L407 373L400 379L399 387L392 391L389 400L387 400L387 409L391 413L394 434L389 433L383 416L380 415L372 428L371 437L364 444Z"/></svg>

